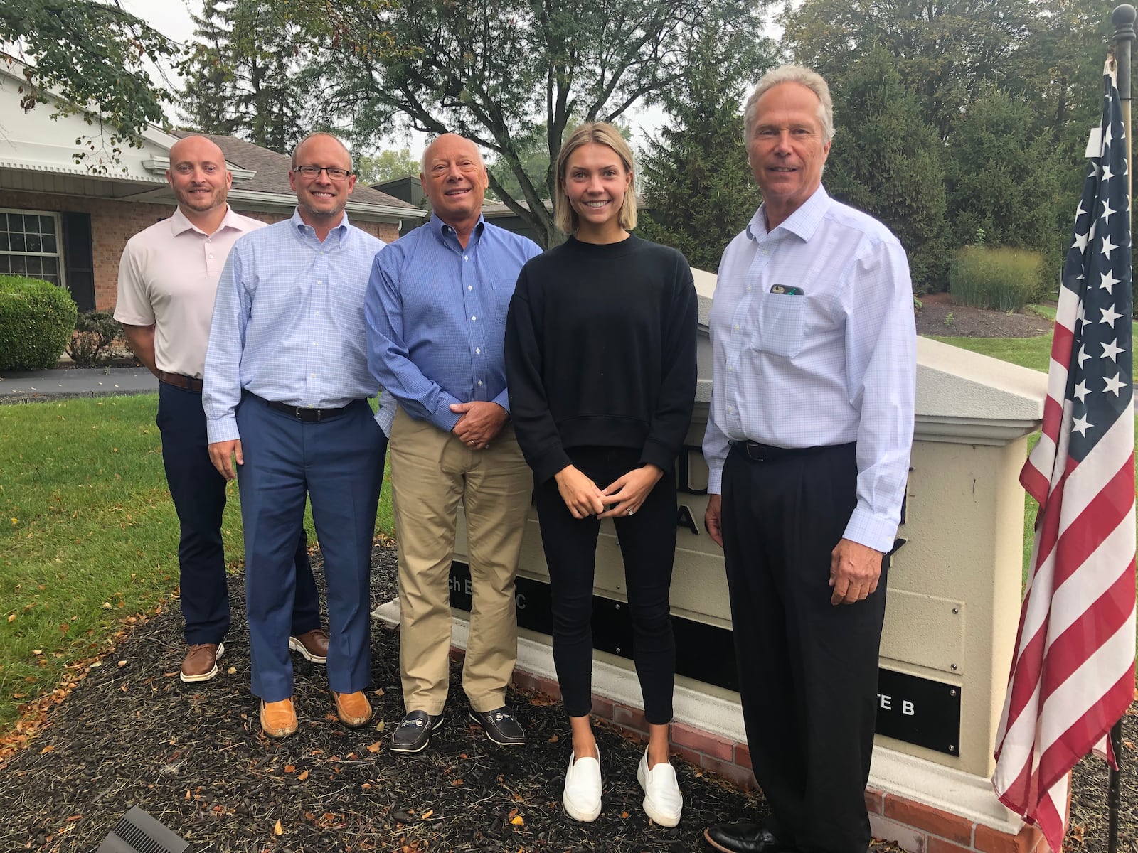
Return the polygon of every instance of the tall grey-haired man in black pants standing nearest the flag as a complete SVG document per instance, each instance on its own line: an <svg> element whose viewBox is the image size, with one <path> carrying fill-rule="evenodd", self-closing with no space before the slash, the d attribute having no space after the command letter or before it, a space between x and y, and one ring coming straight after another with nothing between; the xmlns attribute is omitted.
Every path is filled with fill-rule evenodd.
<svg viewBox="0 0 1138 853"><path fill-rule="evenodd" d="M913 442L905 250L822 185L826 82L767 74L744 113L762 206L719 265L709 317L708 533L724 548L764 825L731 853L863 853L885 569Z"/></svg>

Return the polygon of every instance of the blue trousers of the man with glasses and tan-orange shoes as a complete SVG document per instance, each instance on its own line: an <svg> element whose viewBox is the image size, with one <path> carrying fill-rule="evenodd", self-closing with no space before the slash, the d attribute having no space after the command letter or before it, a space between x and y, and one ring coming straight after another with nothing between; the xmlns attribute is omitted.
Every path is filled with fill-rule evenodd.
<svg viewBox="0 0 1138 853"><path fill-rule="evenodd" d="M371 547L387 437L366 400L315 423L246 394L237 408L245 464L237 470L245 523L245 598L253 693L292 695L288 653L296 589L291 555L312 500L328 588L328 686L355 693L371 665Z"/></svg>

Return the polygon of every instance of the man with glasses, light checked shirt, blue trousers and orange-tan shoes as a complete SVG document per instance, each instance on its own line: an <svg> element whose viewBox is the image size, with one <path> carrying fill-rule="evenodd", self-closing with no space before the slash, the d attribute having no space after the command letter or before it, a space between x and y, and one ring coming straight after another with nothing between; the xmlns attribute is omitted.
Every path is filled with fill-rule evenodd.
<svg viewBox="0 0 1138 853"><path fill-rule="evenodd" d="M371 719L371 546L387 437L366 399L377 383L363 299L384 243L348 224L355 180L338 139L300 141L289 172L296 213L233 246L206 350L209 458L241 488L253 693L273 738L297 728L291 555L306 495L324 555L332 704L345 726Z"/></svg>

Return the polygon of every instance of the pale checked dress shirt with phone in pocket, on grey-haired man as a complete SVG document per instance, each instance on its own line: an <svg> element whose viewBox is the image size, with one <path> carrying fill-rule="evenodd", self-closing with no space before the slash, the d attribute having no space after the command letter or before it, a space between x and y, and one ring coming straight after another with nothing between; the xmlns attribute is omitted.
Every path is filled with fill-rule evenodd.
<svg viewBox="0 0 1138 853"><path fill-rule="evenodd" d="M776 285L802 292L772 292ZM857 507L846 538L891 550L916 396L913 285L897 238L822 187L772 232L760 207L724 251L708 322L708 491L720 494L731 441L856 441Z"/></svg>

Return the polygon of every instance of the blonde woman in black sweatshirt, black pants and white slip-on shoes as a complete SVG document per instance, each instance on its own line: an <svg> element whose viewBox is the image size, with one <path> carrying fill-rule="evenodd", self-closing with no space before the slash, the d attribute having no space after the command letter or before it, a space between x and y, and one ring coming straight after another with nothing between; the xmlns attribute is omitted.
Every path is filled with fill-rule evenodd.
<svg viewBox="0 0 1138 853"><path fill-rule="evenodd" d="M522 267L505 351L511 417L534 470L553 660L572 729L562 803L577 820L601 811L589 621L597 532L602 519L612 519L650 732L636 778L644 811L670 827L683 809L668 763L673 466L695 399L695 288L683 255L629 233L633 160L615 127L599 122L574 131L556 176L558 225L571 237Z"/></svg>

